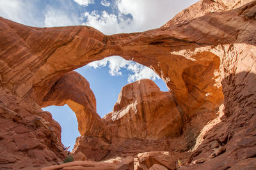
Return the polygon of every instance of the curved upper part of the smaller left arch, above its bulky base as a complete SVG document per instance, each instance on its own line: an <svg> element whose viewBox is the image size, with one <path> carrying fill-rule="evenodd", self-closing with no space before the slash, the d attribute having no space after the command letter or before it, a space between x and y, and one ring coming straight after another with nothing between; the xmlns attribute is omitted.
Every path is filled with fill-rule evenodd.
<svg viewBox="0 0 256 170"><path fill-rule="evenodd" d="M38 94L39 92L36 92ZM41 107L67 104L76 113L78 130L81 135L102 136L106 133L104 123L96 112L95 96L86 79L75 71L63 74L51 89L38 101Z"/></svg>

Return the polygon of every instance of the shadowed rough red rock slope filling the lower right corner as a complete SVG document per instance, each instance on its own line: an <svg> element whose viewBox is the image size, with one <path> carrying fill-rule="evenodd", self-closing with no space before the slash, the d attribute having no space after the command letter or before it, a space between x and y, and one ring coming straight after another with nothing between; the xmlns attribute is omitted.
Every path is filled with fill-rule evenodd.
<svg viewBox="0 0 256 170"><path fill-rule="evenodd" d="M255 169L256 155L256 74L230 74L222 81L224 115L203 136L204 141L191 153L181 169ZM204 159L203 164L195 164ZM198 161L200 162L200 161Z"/></svg>

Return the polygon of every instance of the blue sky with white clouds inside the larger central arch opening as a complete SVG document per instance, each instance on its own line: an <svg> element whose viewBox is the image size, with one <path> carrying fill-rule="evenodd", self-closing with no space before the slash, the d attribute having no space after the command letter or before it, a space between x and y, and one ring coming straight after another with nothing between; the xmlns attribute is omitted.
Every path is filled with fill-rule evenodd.
<svg viewBox="0 0 256 170"><path fill-rule="evenodd" d="M113 111L118 94L128 83L148 78L153 80L161 91L168 91L164 81L152 69L120 56L97 60L75 71L90 83L100 117Z"/></svg>

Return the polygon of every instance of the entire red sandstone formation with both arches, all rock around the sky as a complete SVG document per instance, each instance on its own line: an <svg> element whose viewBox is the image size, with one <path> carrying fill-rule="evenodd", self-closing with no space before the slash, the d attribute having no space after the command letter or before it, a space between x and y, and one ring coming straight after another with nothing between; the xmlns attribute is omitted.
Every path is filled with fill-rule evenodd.
<svg viewBox="0 0 256 170"><path fill-rule="evenodd" d="M112 36L0 18L0 168L61 163L60 125L40 107L63 104L77 115L73 154L83 159L132 156L144 169L255 168L255 20L250 0L200 1L159 29ZM90 85L70 71L111 55L154 69L170 92L150 80L131 83L101 119ZM172 158L138 155L152 151Z"/></svg>

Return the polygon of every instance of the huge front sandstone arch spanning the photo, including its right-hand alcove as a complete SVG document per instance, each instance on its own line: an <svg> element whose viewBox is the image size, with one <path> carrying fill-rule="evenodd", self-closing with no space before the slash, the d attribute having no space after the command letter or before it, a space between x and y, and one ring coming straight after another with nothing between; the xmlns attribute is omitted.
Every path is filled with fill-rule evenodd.
<svg viewBox="0 0 256 170"><path fill-rule="evenodd" d="M214 3L203 4L206 8ZM233 52L241 51L239 44L251 48L254 43L253 17L246 19L253 13L250 9L253 7L207 13L183 24L113 36L104 36L91 27L39 29L1 18L2 85L20 97L32 92L38 102L36 92L48 92L49 83L61 74L93 60L120 55L152 67L186 113L193 115L193 110L204 104L214 108L223 102L220 81L225 73L220 66Z"/></svg>

